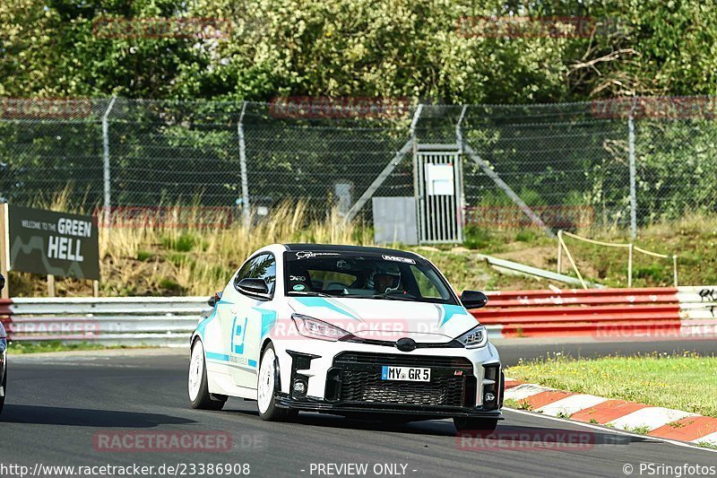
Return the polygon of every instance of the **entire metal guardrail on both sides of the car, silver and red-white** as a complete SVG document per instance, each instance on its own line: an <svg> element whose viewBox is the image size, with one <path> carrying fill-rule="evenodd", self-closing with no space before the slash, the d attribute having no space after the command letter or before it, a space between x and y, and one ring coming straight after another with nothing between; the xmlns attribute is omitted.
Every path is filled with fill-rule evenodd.
<svg viewBox="0 0 717 478"><path fill-rule="evenodd" d="M489 335L717 338L717 286L493 291L472 310ZM11 340L185 346L207 297L0 300Z"/></svg>

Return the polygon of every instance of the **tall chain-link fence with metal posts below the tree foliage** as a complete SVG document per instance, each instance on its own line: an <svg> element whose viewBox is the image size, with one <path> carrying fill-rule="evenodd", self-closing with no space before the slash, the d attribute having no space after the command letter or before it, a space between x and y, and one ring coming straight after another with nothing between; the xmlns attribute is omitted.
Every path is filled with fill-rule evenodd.
<svg viewBox="0 0 717 478"><path fill-rule="evenodd" d="M372 196L419 194L413 158L430 143L461 153L463 217L481 227L529 227L526 208L574 229L717 205L713 99L381 101L2 100L0 194L38 204L64 191L84 209L187 204L233 218L303 199L314 213L338 206L370 221Z"/></svg>

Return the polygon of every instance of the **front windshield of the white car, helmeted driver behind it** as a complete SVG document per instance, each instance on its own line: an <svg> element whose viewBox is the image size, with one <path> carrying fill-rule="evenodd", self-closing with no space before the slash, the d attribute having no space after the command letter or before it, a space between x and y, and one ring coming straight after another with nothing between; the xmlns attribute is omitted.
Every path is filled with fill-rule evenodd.
<svg viewBox="0 0 717 478"><path fill-rule="evenodd" d="M284 260L289 296L457 303L433 265L398 252L297 251L284 253Z"/></svg>

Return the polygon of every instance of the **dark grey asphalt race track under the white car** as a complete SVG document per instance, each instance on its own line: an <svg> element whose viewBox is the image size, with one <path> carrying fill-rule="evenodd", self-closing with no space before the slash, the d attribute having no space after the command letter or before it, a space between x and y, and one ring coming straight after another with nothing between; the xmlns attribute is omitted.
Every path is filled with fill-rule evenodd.
<svg viewBox="0 0 717 478"><path fill-rule="evenodd" d="M587 354L630 348L609 343L553 345L557 352ZM532 347L538 355L544 354L546 346L508 341L499 348L506 361L513 362L530 358ZM648 348L652 352L660 347L652 343ZM710 350L714 348L711 343ZM626 476L623 467L628 464L633 476L669 476L677 473L648 474L646 469L641 474L640 465L717 466L717 453L710 450L519 411L505 411L505 422L498 426L505 439L500 440L457 438L448 421L388 425L302 413L293 422L262 422L255 403L236 399L230 399L222 412L196 411L187 405L185 351L75 352L10 359L7 401L0 417L0 470L2 465L26 465L34 471L38 464L181 464L187 466L184 471L189 476L189 466L213 463L249 464L252 476ZM232 446L213 453L110 452L96 447L98 434L126 430L227 432ZM566 444L566 436L580 444ZM355 469L344 468L338 474L328 467L320 473L319 464L366 464L367 473L350 474L346 472ZM380 468L383 465L393 465L396 471ZM5 468L2 475L16 473L17 469Z"/></svg>

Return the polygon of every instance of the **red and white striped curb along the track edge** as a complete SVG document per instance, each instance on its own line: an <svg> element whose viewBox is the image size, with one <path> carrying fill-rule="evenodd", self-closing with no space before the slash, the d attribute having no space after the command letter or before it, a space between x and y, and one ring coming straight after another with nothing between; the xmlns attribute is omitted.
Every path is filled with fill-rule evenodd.
<svg viewBox="0 0 717 478"><path fill-rule="evenodd" d="M555 388L505 379L505 399L532 412L597 423L618 430L647 430L647 435L717 446L717 418L660 406L637 404L596 395L574 394Z"/></svg>

